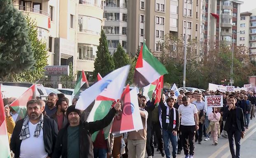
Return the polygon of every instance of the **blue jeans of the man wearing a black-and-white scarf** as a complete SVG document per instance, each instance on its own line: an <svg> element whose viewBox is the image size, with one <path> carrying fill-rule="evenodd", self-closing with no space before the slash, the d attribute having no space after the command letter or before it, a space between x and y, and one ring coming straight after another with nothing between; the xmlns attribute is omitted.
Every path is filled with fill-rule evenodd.
<svg viewBox="0 0 256 158"><path fill-rule="evenodd" d="M163 130L163 144L165 146L165 156L166 158L171 158L170 153L170 141L172 143L172 158L176 158L178 151L178 137L174 136L172 131Z"/></svg>

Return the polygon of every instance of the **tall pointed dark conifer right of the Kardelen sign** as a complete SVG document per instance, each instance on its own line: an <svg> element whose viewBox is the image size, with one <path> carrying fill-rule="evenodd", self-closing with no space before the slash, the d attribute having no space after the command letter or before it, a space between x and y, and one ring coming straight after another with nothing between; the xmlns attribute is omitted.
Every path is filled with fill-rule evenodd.
<svg viewBox="0 0 256 158"><path fill-rule="evenodd" d="M102 77L106 76L108 73L114 70L114 60L109 53L107 46L107 37L103 30L101 30L100 34L100 44L97 47L97 57L94 62L94 71L93 78L97 78L97 74L100 73Z"/></svg>

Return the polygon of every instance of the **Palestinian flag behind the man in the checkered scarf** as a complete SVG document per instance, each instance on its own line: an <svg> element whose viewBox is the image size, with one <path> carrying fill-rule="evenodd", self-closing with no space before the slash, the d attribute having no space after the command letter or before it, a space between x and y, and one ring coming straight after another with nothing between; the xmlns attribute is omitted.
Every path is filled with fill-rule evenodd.
<svg viewBox="0 0 256 158"><path fill-rule="evenodd" d="M19 114L19 118L17 118L17 119L23 119L26 116L27 102L31 99L35 99L35 85L32 85L19 98L15 99L9 105ZM16 121L16 120L14 120L14 121Z"/></svg>

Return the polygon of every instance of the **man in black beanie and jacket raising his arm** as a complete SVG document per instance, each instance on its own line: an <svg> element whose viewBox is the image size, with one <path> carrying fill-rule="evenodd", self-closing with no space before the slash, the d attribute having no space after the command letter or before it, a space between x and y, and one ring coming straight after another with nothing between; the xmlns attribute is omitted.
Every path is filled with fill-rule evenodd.
<svg viewBox="0 0 256 158"><path fill-rule="evenodd" d="M69 124L58 133L51 158L93 158L91 135L107 127L120 107L121 103L116 103L102 120L94 122L81 122L81 111L75 109L74 105L68 107L66 114Z"/></svg>

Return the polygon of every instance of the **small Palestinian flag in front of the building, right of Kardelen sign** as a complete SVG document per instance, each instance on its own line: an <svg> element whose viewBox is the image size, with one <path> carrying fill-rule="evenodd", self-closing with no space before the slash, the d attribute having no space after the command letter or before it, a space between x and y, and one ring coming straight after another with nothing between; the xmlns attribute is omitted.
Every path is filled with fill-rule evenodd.
<svg viewBox="0 0 256 158"><path fill-rule="evenodd" d="M86 75L84 73L84 70L81 72L81 75L79 76L79 79L77 80L77 84L74 87L74 92L72 96L77 97L79 96L80 91L84 91L89 87L88 80L86 78Z"/></svg>

